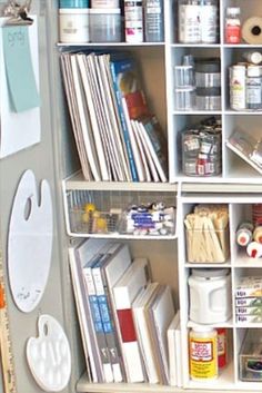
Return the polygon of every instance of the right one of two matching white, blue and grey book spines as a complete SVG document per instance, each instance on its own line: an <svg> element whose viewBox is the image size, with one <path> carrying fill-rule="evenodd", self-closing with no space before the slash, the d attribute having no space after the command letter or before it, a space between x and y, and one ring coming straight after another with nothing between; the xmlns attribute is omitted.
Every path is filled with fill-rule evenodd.
<svg viewBox="0 0 262 393"><path fill-rule="evenodd" d="M109 356L113 370L114 382L123 381L123 371L121 367L121 356L118 345L117 332L114 330L112 312L110 307L109 293L107 289L105 277L103 277L101 267L93 267L92 275L100 308L103 331L105 335L107 345L109 348Z"/></svg>

